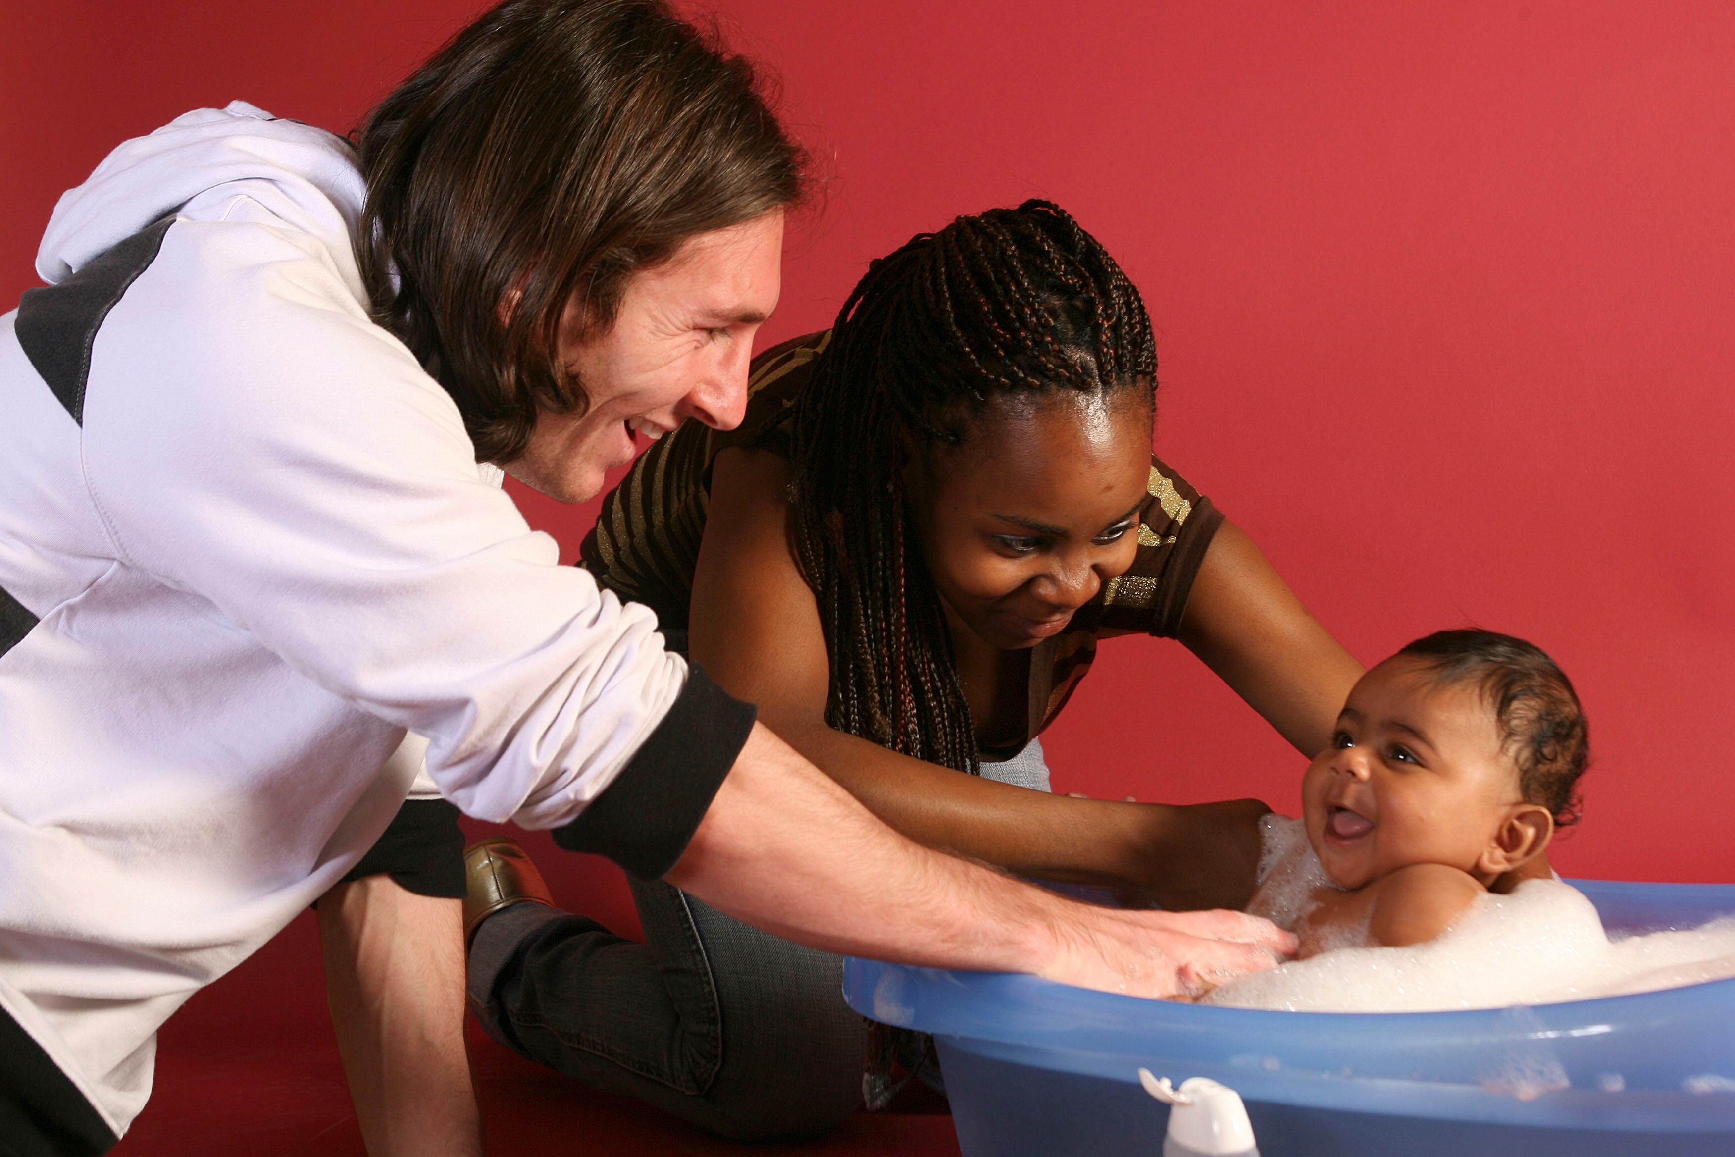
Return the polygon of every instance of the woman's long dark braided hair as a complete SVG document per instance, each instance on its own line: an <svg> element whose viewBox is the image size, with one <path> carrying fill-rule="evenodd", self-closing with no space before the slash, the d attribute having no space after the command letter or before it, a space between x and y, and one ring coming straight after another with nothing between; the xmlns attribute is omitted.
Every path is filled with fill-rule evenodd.
<svg viewBox="0 0 1735 1157"><path fill-rule="evenodd" d="M826 722L977 772L939 593L904 496L907 448L958 446L1005 394L1156 390L1138 290L1048 201L959 217L869 265L793 428L795 553L831 659Z"/></svg>

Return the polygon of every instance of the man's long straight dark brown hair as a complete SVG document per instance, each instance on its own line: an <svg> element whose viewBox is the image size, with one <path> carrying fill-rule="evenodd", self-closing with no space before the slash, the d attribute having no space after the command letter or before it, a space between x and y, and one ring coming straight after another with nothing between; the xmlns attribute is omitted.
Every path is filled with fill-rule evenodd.
<svg viewBox="0 0 1735 1157"><path fill-rule="evenodd" d="M569 300L612 324L633 271L793 205L805 156L727 54L665 0L507 0L356 132L373 319L458 402L479 461L538 411L581 413Z"/></svg>

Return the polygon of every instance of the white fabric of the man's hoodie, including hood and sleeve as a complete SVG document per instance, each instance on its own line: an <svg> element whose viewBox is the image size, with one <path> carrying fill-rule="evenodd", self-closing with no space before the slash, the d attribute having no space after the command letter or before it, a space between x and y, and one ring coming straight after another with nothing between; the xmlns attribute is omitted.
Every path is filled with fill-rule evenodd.
<svg viewBox="0 0 1735 1157"><path fill-rule="evenodd" d="M0 1006L116 1134L158 1025L392 819L406 730L460 808L550 827L687 682L368 321L361 201L338 137L189 113L61 198L66 284L0 317Z"/></svg>

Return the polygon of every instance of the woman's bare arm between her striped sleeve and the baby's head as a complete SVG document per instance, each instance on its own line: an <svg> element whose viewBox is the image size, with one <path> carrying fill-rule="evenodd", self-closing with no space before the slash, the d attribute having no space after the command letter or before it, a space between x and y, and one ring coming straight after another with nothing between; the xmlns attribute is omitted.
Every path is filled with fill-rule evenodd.
<svg viewBox="0 0 1735 1157"><path fill-rule="evenodd" d="M1234 522L1206 548L1180 640L1308 758L1331 742L1362 677Z"/></svg>

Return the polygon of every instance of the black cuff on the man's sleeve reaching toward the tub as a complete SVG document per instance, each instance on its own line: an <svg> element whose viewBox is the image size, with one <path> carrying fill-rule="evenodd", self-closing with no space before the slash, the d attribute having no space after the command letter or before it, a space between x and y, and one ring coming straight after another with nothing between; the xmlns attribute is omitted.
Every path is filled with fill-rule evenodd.
<svg viewBox="0 0 1735 1157"><path fill-rule="evenodd" d="M661 879L687 850L756 715L694 664L632 763L578 819L557 827L553 841L606 855L640 879Z"/></svg>

